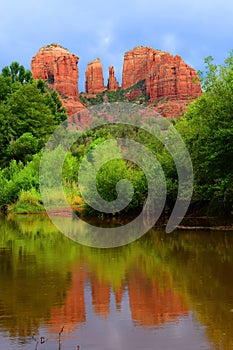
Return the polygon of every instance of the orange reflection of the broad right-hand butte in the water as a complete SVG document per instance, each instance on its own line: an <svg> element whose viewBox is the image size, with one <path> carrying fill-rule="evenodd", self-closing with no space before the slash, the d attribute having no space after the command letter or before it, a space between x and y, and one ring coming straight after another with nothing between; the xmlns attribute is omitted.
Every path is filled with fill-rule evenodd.
<svg viewBox="0 0 233 350"><path fill-rule="evenodd" d="M188 310L171 287L163 291L156 282L132 277L129 282L129 301L135 325L153 326L187 316Z"/></svg>

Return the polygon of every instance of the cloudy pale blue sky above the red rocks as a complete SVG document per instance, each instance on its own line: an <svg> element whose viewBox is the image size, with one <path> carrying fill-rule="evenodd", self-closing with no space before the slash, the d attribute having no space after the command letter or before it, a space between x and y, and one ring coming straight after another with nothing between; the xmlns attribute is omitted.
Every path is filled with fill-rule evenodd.
<svg viewBox="0 0 233 350"><path fill-rule="evenodd" d="M105 79L121 80L124 52L151 46L179 54L195 69L233 49L232 0L6 0L0 7L0 69L30 68L41 46L56 42L79 56L80 91L87 62L100 57Z"/></svg>

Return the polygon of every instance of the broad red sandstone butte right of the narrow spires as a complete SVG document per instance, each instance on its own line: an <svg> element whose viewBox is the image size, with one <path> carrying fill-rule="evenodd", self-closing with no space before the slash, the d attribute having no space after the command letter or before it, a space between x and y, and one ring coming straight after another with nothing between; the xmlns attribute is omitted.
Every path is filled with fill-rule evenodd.
<svg viewBox="0 0 233 350"><path fill-rule="evenodd" d="M200 96L201 86L196 71L180 56L154 50L151 47L136 47L125 53L122 74L122 89L139 82L150 104L164 116L178 116L183 113L190 100ZM130 92L138 94L138 87ZM174 103L175 101L175 103Z"/></svg>

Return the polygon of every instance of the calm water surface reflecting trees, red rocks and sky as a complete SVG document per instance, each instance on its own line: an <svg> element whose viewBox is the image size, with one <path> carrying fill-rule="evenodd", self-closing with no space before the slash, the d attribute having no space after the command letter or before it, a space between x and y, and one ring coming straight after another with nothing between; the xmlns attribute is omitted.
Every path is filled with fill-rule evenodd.
<svg viewBox="0 0 233 350"><path fill-rule="evenodd" d="M94 249L45 216L0 225L1 350L233 349L233 232Z"/></svg>

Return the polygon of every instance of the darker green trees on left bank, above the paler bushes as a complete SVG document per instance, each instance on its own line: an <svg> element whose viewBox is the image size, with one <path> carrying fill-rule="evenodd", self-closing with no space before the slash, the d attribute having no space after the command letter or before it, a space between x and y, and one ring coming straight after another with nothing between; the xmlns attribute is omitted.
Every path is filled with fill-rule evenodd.
<svg viewBox="0 0 233 350"><path fill-rule="evenodd" d="M11 159L24 163L30 160L44 146L55 127L67 118L57 92L49 90L43 80L31 79L29 73L13 62L4 67L0 75L2 168Z"/></svg>

